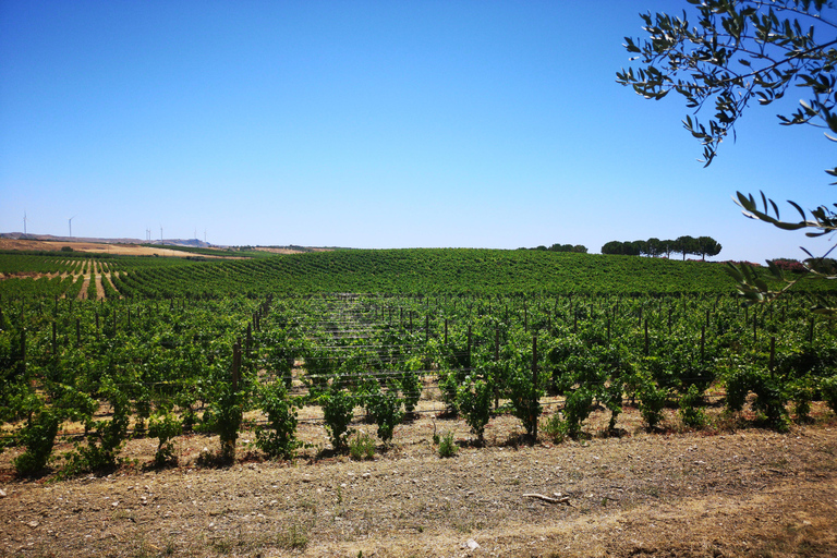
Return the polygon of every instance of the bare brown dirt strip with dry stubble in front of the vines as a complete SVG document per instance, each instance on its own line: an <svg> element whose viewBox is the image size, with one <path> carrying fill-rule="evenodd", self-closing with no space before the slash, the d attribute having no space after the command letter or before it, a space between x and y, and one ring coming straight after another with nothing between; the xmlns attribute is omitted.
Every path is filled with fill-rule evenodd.
<svg viewBox="0 0 837 558"><path fill-rule="evenodd" d="M597 412L589 439L535 446L499 415L478 448L461 420L424 413L371 461L332 454L322 423L301 422L310 447L293 463L264 460L245 430L232 466L199 466L218 440L190 435L178 466L154 469L146 438L128 444L133 463L59 482L16 478L7 450L0 556L837 556L837 418L814 415L787 434L720 415L687 432L670 411L648 434L627 409L621 436L603 437ZM454 434L456 457L434 432Z"/></svg>

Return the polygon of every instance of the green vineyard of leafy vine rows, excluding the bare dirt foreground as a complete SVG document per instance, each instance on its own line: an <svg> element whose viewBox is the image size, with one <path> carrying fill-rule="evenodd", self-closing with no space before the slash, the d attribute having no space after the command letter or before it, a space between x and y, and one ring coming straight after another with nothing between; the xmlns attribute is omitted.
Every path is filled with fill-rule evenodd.
<svg viewBox="0 0 837 558"><path fill-rule="evenodd" d="M138 463L154 469L208 436L191 463L225 468L371 459L427 420L427 444L453 457L638 428L781 433L837 411L837 333L809 294L745 306L717 264L4 254L0 272L0 421L21 478L116 471L134 439L154 440ZM505 437L486 436L495 423Z"/></svg>

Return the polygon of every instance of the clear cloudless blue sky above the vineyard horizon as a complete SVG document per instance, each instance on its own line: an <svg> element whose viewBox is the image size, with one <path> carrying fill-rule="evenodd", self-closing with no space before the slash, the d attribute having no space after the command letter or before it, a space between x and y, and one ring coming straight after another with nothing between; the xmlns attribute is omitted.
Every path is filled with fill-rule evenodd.
<svg viewBox="0 0 837 558"><path fill-rule="evenodd" d="M227 245L825 252L730 198L830 203L821 131L752 107L703 168L681 98L616 83L639 13L684 7L0 0L0 231L25 211L31 233Z"/></svg>

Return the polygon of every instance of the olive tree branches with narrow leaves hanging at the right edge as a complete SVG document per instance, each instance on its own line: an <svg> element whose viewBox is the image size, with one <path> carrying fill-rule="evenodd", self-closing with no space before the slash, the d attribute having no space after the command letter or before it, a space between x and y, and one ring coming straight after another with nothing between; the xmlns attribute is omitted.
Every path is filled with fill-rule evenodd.
<svg viewBox="0 0 837 558"><path fill-rule="evenodd" d="M694 112L714 109L707 122L692 116L683 120L684 128L701 142L706 166L712 163L724 138L729 134L735 137L736 122L751 104L768 106L790 87L794 93L805 92L806 98L792 113L778 114L778 123L822 128L827 140L837 142L837 10L833 2L687 2L694 7L689 14L640 14L648 36L626 37L626 48L634 54L631 60L641 66L617 72L617 82L646 99L662 99L674 92L684 97L687 107ZM689 21L690 14L694 14L693 21ZM825 172L837 177L837 168ZM736 203L747 217L783 230L806 229L812 238L837 230L837 204L805 211L789 201L799 219L784 220L777 204L764 193L754 197L737 192ZM805 277L835 277L826 259L828 253L821 257L806 250L805 253ZM769 265L769 270L784 282L781 289L769 289L749 266L728 267L749 303L773 300L799 280L786 280L775 265ZM837 308L815 311L837 316Z"/></svg>

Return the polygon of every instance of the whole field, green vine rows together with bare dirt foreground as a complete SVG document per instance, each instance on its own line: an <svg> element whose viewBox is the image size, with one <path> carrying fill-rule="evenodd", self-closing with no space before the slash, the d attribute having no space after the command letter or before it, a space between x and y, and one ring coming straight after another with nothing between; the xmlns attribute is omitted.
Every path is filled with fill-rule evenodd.
<svg viewBox="0 0 837 558"><path fill-rule="evenodd" d="M805 292L527 251L0 272L5 555L837 554Z"/></svg>

